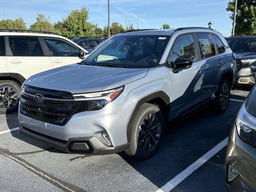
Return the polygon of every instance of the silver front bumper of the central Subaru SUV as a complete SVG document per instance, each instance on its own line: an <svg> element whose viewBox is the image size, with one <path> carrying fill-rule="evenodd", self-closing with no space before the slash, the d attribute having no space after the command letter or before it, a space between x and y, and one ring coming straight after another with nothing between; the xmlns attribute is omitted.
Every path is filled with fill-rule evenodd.
<svg viewBox="0 0 256 192"><path fill-rule="evenodd" d="M101 110L74 114L64 126L41 122L19 112L20 133L68 153L112 154L129 146L127 125L134 108L132 102L120 95ZM112 146L102 137L105 131ZM86 142L90 150L71 151L74 141Z"/></svg>

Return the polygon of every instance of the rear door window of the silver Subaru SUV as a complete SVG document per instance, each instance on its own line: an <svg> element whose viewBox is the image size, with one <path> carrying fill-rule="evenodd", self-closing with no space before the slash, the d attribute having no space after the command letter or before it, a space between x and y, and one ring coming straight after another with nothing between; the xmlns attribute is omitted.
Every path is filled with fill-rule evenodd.
<svg viewBox="0 0 256 192"><path fill-rule="evenodd" d="M216 55L215 46L210 34L196 34L196 38L198 39L202 59Z"/></svg>

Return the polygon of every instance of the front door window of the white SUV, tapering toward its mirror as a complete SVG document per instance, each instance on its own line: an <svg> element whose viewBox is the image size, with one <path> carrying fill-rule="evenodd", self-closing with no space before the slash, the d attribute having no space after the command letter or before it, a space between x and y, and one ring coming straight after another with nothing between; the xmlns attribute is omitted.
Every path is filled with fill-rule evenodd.
<svg viewBox="0 0 256 192"><path fill-rule="evenodd" d="M51 56L60 56L60 57L77 57L79 52L76 46L61 40L54 38L45 38L46 45L49 48Z"/></svg>

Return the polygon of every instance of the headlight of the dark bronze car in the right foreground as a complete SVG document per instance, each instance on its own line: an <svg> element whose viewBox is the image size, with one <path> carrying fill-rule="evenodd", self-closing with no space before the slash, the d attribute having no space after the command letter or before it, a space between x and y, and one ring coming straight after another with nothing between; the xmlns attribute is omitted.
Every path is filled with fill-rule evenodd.
<svg viewBox="0 0 256 192"><path fill-rule="evenodd" d="M239 137L251 146L256 147L256 129L244 122L236 122Z"/></svg>

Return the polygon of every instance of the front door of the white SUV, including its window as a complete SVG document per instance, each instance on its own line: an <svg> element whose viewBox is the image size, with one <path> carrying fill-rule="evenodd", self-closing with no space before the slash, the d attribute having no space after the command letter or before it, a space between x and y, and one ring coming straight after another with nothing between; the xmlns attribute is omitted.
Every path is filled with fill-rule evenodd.
<svg viewBox="0 0 256 192"><path fill-rule="evenodd" d="M81 62L78 48L60 38L44 38L54 68Z"/></svg>

